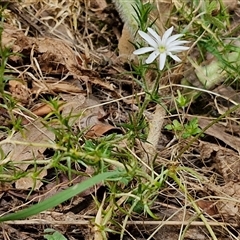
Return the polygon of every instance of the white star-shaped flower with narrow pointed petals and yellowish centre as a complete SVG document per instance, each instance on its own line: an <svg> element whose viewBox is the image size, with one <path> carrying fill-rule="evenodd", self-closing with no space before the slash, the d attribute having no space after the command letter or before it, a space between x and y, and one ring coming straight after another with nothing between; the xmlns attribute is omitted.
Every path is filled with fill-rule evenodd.
<svg viewBox="0 0 240 240"><path fill-rule="evenodd" d="M170 56L176 62L181 62L181 59L174 55L184 50L188 50L189 47L181 46L188 41L180 41L178 38L183 34L172 35L173 27L169 28L162 36L162 38L152 29L148 28L148 34L139 30L138 34L150 45L150 47L143 47L135 50L133 54L141 55L144 53L152 52L146 59L146 64L152 63L157 57L159 57L159 69L164 68L167 56Z"/></svg>

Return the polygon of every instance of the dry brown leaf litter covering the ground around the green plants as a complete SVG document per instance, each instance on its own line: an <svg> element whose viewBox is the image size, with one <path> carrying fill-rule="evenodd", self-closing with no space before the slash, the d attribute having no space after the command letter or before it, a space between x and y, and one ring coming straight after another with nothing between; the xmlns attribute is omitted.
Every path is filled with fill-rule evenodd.
<svg viewBox="0 0 240 240"><path fill-rule="evenodd" d="M130 96L132 93L134 95L139 91L131 82L131 77L130 79L127 76L116 77L119 73L126 71L124 62L132 57L132 45L126 42L130 33L126 26L121 32L122 25L119 17L115 19L118 25L113 25L111 11L116 10L106 1L90 1L89 5L85 5L84 2L69 1L65 4L63 1L53 7L48 1L39 3L23 1L21 4L11 2L8 6L11 18L3 26L2 44L9 47L15 54L9 58L11 71L8 73L8 78L11 80L8 81L6 91L17 102L18 109L15 109L14 115L22 119L24 129L16 131L10 138L6 138L4 134L1 137L1 154L4 156L2 164L14 164L22 173L19 179L10 179L10 183L3 183L1 186L1 206L10 199L8 209L3 208L5 212L26 204L26 200L41 201L72 184L84 181L93 174L93 169L88 166L81 169L82 175L73 174L69 180L69 176L63 173L57 178L53 177L50 164L45 168L36 167L37 163L41 165L41 161L49 160L52 149L48 149L47 146L55 141L54 133L46 127L44 121L44 117L53 114L54 111L53 107L46 102L49 96L58 99L62 116L67 117L69 114L72 116L70 124L74 128L79 131L86 130L84 132L86 139L98 139L109 133L122 134L122 129L114 126L114 121L120 121L121 118L114 114L120 112L123 119L128 119L127 109L131 107L137 109L134 96L130 101L123 100L123 103L119 100L117 107L114 103L112 106L108 104L107 108L103 107L104 101L124 99L124 96ZM237 1L223 2L227 4L230 11L238 10ZM164 31L163 26L169 18L172 7L171 1L159 1L158 14L164 9L164 15L160 14L160 22L156 23L160 31ZM83 12L89 14L92 20L88 24ZM105 25L99 29L94 18L101 20ZM80 31L79 23L84 26ZM235 23L237 20L233 25ZM116 45L119 48L119 56L114 50ZM182 75L181 70L171 74L172 76ZM195 75L192 78L194 81L197 79ZM149 79L151 83L151 74ZM231 99L233 93L230 90L225 89L225 91L227 92L224 96ZM237 100L234 99L234 101ZM216 101L213 102L214 104ZM226 109L222 102L218 102L215 106L217 111ZM3 121L1 125L10 127L8 112L4 108L0 110L0 120ZM156 164L161 165L174 158L175 153L187 143L180 142L175 145L176 139L163 130L164 122L167 120L162 108L156 109L154 113L149 110L146 115L150 116L149 122L152 123L151 135L148 138L148 142L151 143L150 157L154 158L155 153L163 149L159 152L161 157L156 159ZM210 120L201 117L198 122L201 128L211 123ZM191 179L187 179L186 184L192 188L192 192L198 198L198 206L210 216L209 219L215 219L228 226L229 232L226 233L226 228L222 232L221 224L217 225L219 239L233 239L230 238L231 234L237 235L239 231L240 145L239 126L234 123L234 119L227 119L227 122L222 121L208 128L205 131L208 138L205 141L199 140L192 148L190 147L184 154L184 159L181 160L186 166L194 166L205 176L204 182L198 186L196 182L191 182ZM57 126L56 123L48 124L50 126L53 124L51 127ZM229 131L231 126L236 126L236 131L233 127L233 130ZM159 132L161 129L162 131ZM155 131L157 131L156 135ZM166 140L160 141L160 138ZM159 143L165 145L160 146ZM140 156L147 162L149 155L146 154L146 149L149 149L149 145L140 143L139 146L142 147ZM73 168L78 170L77 166ZM34 175L36 172L37 176ZM29 195L29 191L32 194ZM91 235L95 236L92 239L101 239L95 226L90 226L88 221L84 222L88 219L86 218L88 214L96 217L96 223L103 220L101 219L103 206L101 205L97 210L91 198L91 195L95 195L102 200L103 204L105 196L101 191L101 184L99 184L85 191L81 196L76 196L67 203L68 206L59 206L52 212L40 214L38 218L46 220L49 226L58 225L56 229L65 233L69 239L91 239ZM158 201L155 203L157 215L163 221L164 219L169 221L159 228L153 239L178 239L182 222L195 220L192 219L194 216L188 209L181 209L185 200L185 196L177 191L171 193L163 190L159 193ZM145 223L151 221L147 217L143 219ZM64 224L61 225L61 220L67 224L70 223L71 226L67 228ZM43 225L43 222L36 223L33 218L22 223L37 229L39 234L32 234L32 230L18 222L18 226L14 223L2 225L2 236L10 236L11 239L19 237L41 239L42 228L38 224ZM151 236L155 227L159 226L159 222L151 223L145 225L142 222L141 224L135 222L136 226L129 223L127 231L134 238L126 235L126 239L145 239L146 236ZM73 228L77 234L74 233ZM204 231L203 226L197 223L190 227L185 237L186 239L207 239Z"/></svg>

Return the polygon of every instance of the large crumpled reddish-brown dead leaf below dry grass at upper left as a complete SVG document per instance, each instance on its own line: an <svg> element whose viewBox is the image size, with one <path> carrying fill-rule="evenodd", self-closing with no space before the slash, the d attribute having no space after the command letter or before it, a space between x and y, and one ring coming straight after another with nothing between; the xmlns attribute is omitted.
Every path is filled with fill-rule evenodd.
<svg viewBox="0 0 240 240"><path fill-rule="evenodd" d="M63 40L28 37L8 24L4 24L3 29L3 46L9 47L13 53L21 54L24 51L25 57L27 55L30 57L34 53L42 72L51 74L71 72L75 77L78 77L77 55ZM11 55L10 59L19 61L21 56Z"/></svg>

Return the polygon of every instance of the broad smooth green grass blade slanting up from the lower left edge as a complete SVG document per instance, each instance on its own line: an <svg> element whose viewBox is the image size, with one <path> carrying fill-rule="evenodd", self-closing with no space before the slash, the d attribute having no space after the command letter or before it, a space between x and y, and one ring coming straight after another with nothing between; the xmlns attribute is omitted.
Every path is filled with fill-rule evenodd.
<svg viewBox="0 0 240 240"><path fill-rule="evenodd" d="M12 220L18 220L18 219L25 219L27 217L36 215L40 212L46 211L50 208L56 207L60 203L74 197L75 195L78 195L79 193L87 190L88 188L94 186L95 184L106 180L107 178L118 176L119 177L119 172L104 172L101 174L98 174L92 178L87 179L84 182L81 182L79 184L76 184L75 186L72 186L66 190L63 190L62 192L59 192L55 194L54 196L38 203L35 204L29 208L20 210L19 212L16 213L11 213L6 216L0 217L0 222L4 221L12 221Z"/></svg>

